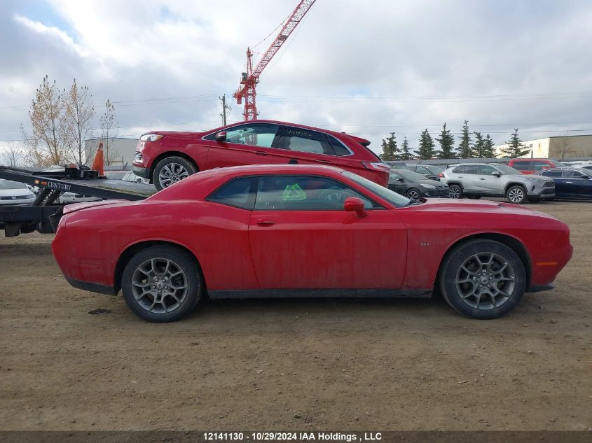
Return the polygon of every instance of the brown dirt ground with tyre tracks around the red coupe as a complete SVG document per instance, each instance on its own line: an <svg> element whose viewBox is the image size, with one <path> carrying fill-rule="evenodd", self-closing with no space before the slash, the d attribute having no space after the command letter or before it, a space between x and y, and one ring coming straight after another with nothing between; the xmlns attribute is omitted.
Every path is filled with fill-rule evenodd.
<svg viewBox="0 0 592 443"><path fill-rule="evenodd" d="M574 258L497 321L434 298L205 302L151 324L71 288L53 236L1 237L0 430L588 430L592 204L529 206L570 225Z"/></svg>

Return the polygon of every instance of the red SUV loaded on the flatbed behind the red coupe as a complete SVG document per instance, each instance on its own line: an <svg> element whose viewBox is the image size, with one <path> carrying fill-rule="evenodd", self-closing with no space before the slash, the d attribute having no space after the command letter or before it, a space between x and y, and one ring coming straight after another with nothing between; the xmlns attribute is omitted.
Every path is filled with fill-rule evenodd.
<svg viewBox="0 0 592 443"><path fill-rule="evenodd" d="M293 123L257 120L206 132L154 131L140 137L134 174L167 188L205 169L242 164L330 164L387 186L389 166L366 139Z"/></svg>

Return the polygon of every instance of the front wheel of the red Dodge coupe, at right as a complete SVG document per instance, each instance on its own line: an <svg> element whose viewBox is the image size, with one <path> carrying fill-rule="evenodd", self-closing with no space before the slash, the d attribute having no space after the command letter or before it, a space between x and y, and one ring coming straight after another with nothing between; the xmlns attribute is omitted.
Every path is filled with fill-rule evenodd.
<svg viewBox="0 0 592 443"><path fill-rule="evenodd" d="M476 265L476 256L480 265L483 265L483 260L493 257L490 265L491 274L488 271L483 275L483 269L476 274L469 274L464 270L469 269L472 272L480 269L479 265ZM502 269L502 262L507 262L507 267ZM474 263L474 267L470 263ZM511 280L490 279L496 268L502 269L499 276L505 275L504 279L511 277ZM478 278L471 281L474 279L472 276ZM465 277L468 280L466 282L463 281ZM520 302L526 287L526 272L522 260L508 246L493 240L475 239L450 251L441 265L438 280L444 300L453 309L470 318L490 320L508 314ZM457 283L457 280L461 283ZM490 286L487 286L488 284ZM500 290L509 294L509 297L502 295ZM467 297L471 291L474 295ZM495 296L493 292L496 293Z"/></svg>

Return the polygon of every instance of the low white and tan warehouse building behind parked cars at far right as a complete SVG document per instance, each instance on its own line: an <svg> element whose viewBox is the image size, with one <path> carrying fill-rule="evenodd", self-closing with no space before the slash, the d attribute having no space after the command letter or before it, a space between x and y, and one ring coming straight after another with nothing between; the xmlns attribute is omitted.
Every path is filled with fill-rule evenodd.
<svg viewBox="0 0 592 443"><path fill-rule="evenodd" d="M523 155L523 157L557 160L592 157L592 135L546 137L545 139L524 141L524 145L530 148L530 153ZM507 147L507 144L497 145L495 152L502 156L502 149Z"/></svg>

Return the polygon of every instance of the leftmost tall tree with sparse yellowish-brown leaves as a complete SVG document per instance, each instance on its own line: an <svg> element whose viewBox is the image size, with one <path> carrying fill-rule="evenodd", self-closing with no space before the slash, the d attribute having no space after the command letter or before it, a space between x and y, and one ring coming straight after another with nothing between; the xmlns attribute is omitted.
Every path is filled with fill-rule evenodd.
<svg viewBox="0 0 592 443"><path fill-rule="evenodd" d="M64 96L58 90L55 80L50 83L48 76L43 77L29 111L32 137L21 126L28 148L28 160L35 166L66 162L69 139L64 127L64 113Z"/></svg>

